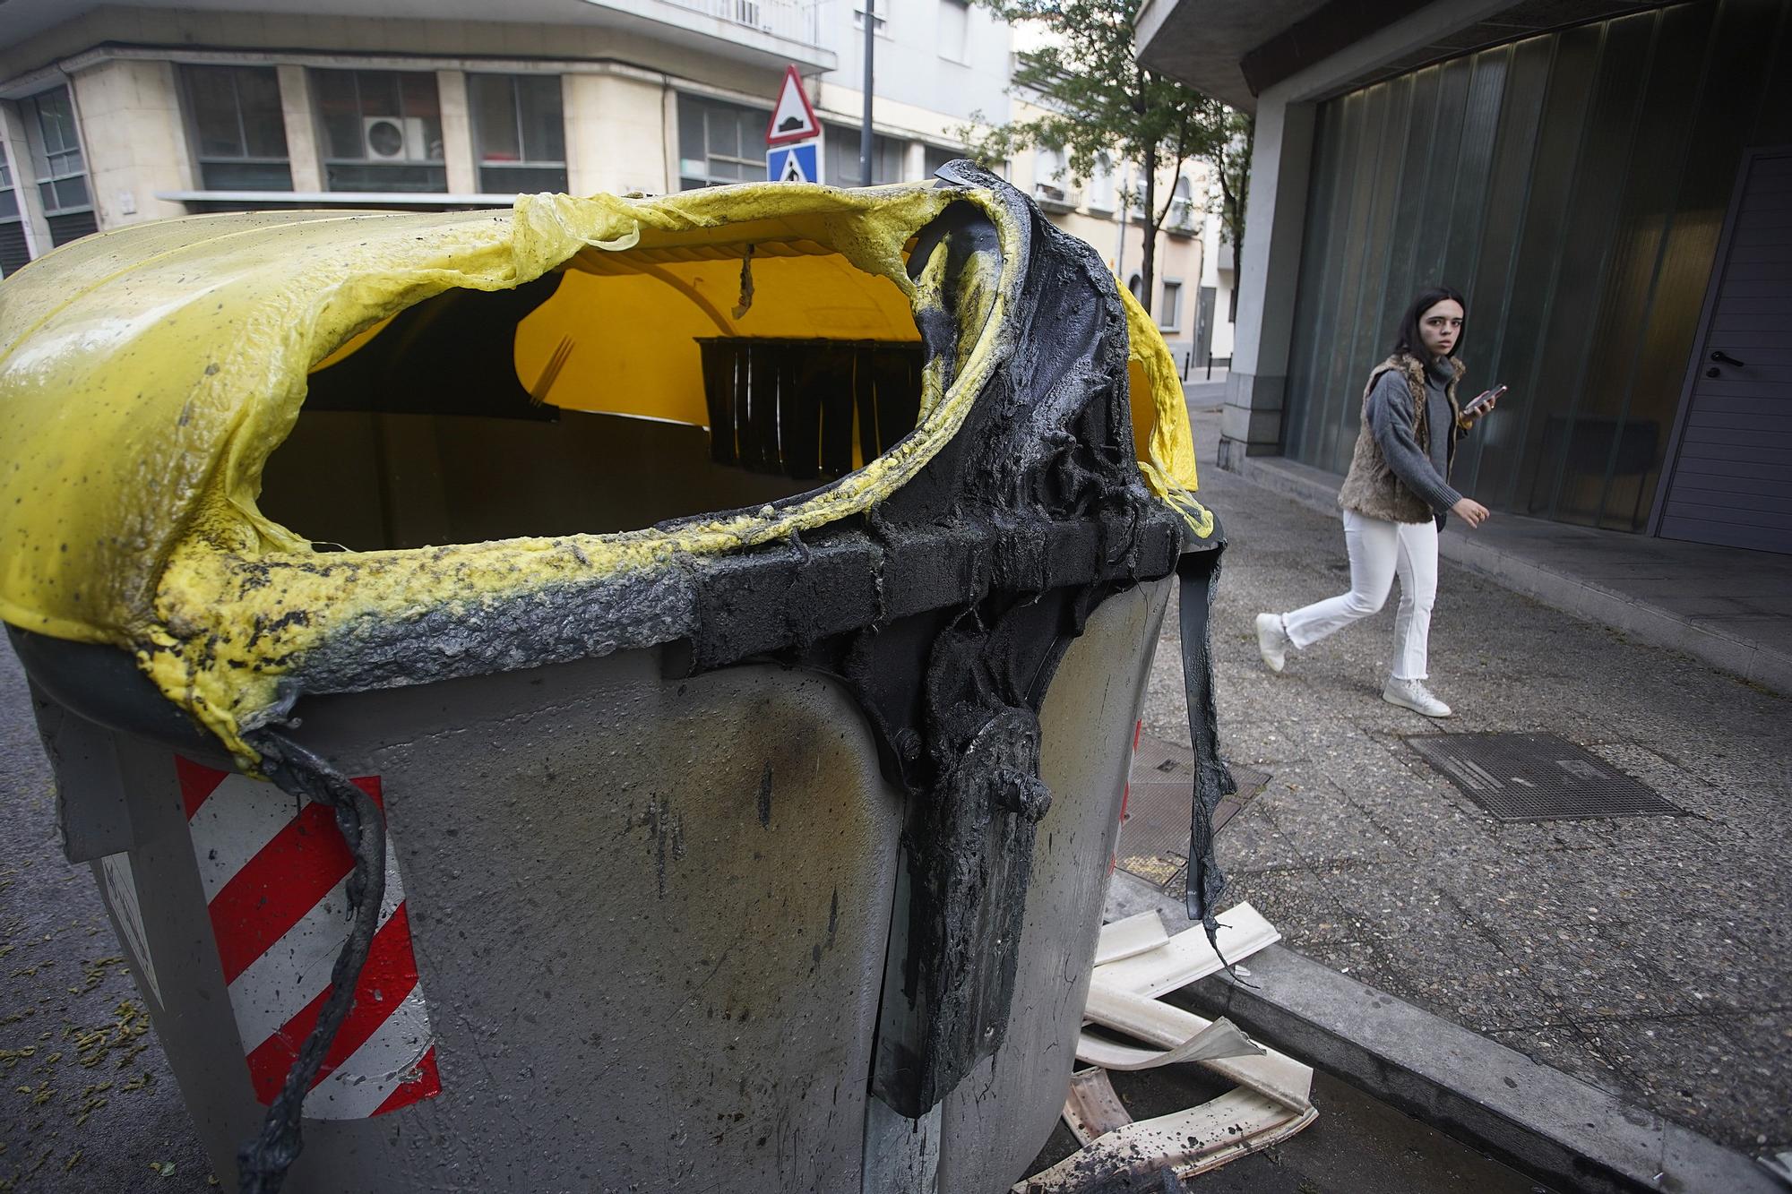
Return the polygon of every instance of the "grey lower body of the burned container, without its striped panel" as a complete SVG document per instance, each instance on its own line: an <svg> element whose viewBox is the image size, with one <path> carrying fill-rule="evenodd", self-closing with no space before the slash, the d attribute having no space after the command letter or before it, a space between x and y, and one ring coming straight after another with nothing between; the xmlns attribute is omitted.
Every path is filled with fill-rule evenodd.
<svg viewBox="0 0 1792 1194"><path fill-rule="evenodd" d="M306 1119L285 1189L883 1194L935 1167L941 1194L1007 1189L1073 1063L1168 588L1102 602L1057 669L1005 1038L921 1120L867 1094L909 798L844 687L668 678L642 649L308 699L306 742L382 780L441 1094ZM265 1110L174 749L39 697L70 852L108 855L102 893L226 1178Z"/></svg>

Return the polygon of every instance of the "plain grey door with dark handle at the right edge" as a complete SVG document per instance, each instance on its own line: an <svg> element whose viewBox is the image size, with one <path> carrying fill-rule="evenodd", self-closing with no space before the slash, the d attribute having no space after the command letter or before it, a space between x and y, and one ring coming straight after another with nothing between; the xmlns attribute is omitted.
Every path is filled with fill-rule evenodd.
<svg viewBox="0 0 1792 1194"><path fill-rule="evenodd" d="M1751 154L1738 192L1656 532L1792 552L1792 149Z"/></svg>

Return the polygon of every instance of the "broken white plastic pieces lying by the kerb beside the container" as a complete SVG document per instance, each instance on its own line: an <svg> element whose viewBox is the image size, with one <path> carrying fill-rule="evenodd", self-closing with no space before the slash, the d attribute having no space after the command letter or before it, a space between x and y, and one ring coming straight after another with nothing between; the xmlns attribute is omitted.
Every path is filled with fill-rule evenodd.
<svg viewBox="0 0 1792 1194"><path fill-rule="evenodd" d="M1281 939L1249 904L1219 921L1228 963ZM1120 1176L1149 1180L1165 1169L1183 1180L1287 1140L1317 1119L1312 1067L1258 1045L1224 1017L1208 1020L1158 999L1224 968L1201 925L1170 936L1156 913L1118 920L1102 929L1095 961L1086 1031L1077 1040L1077 1060L1091 1069L1072 1076L1064 1101L1064 1122L1082 1149L1018 1181L1014 1194L1075 1194ZM1147 1047L1109 1040L1088 1025ZM1201 1065L1235 1088L1172 1115L1127 1115L1107 1072L1177 1063Z"/></svg>

